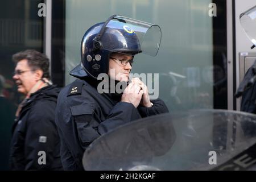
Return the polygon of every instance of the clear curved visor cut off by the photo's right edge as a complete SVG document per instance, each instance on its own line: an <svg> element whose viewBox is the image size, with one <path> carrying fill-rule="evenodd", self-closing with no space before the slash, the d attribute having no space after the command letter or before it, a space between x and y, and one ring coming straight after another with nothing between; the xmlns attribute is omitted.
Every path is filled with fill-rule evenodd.
<svg viewBox="0 0 256 182"><path fill-rule="evenodd" d="M256 46L256 6L242 13L240 22L247 37Z"/></svg>

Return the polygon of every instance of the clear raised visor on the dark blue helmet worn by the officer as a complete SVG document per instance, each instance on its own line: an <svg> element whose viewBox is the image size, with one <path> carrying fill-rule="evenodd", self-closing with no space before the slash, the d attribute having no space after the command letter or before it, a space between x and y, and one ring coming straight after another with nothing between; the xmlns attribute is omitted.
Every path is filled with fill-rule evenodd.
<svg viewBox="0 0 256 182"><path fill-rule="evenodd" d="M105 26L101 36L101 49L118 53L143 52L156 56L161 42L158 25L115 15Z"/></svg>

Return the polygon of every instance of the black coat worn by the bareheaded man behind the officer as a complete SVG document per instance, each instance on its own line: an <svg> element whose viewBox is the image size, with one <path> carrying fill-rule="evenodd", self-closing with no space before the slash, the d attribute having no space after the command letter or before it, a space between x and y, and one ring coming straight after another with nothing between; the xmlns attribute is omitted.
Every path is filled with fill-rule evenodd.
<svg viewBox="0 0 256 182"><path fill-rule="evenodd" d="M56 86L46 86L31 94L22 107L13 125L10 154L12 170L63 169L60 160L60 138L55 124L59 91ZM44 156L46 164L42 163Z"/></svg>

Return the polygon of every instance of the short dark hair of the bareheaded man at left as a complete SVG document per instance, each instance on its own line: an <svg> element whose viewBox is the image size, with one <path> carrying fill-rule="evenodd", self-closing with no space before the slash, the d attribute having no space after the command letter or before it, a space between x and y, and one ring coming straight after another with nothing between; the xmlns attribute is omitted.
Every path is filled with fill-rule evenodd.
<svg viewBox="0 0 256 182"><path fill-rule="evenodd" d="M27 60L28 66L32 70L41 69L43 71L43 78L50 78L49 59L44 53L38 52L34 49L28 49L13 55L13 61L15 64L23 59Z"/></svg>

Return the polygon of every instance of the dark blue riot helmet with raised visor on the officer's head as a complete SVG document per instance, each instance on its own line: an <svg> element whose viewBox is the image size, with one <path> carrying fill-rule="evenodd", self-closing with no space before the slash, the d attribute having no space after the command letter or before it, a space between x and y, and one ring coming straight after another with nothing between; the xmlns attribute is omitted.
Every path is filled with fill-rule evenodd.
<svg viewBox="0 0 256 182"><path fill-rule="evenodd" d="M81 64L69 74L97 79L100 73L108 73L112 53L134 56L144 52L155 56L160 40L159 26L120 15L110 16L105 23L94 24L85 32L81 42Z"/></svg>

